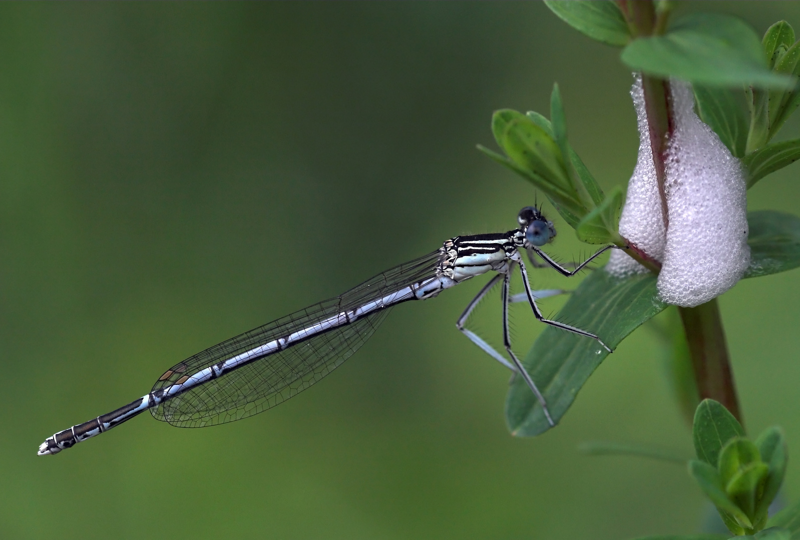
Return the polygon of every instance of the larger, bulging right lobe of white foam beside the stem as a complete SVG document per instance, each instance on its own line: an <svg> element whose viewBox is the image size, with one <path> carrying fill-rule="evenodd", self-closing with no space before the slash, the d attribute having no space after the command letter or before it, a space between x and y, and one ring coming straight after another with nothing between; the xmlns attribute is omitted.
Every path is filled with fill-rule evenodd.
<svg viewBox="0 0 800 540"><path fill-rule="evenodd" d="M674 133L666 157L669 227L658 293L694 307L742 279L750 264L746 182L738 159L694 113L684 82L671 81Z"/></svg>

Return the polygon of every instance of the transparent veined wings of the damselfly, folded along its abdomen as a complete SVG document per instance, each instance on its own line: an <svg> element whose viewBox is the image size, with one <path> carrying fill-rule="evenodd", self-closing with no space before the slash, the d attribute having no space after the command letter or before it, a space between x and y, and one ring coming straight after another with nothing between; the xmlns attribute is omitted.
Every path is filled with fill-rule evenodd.
<svg viewBox="0 0 800 540"><path fill-rule="evenodd" d="M401 264L342 296L314 304L199 352L166 371L155 383L153 391L170 387L182 377L202 371L214 363L433 277L439 256L436 251ZM150 412L156 419L174 426L204 427L233 422L266 411L334 371L372 336L388 312L388 308L381 309L352 324L334 328L242 365L218 379L165 400Z"/></svg>

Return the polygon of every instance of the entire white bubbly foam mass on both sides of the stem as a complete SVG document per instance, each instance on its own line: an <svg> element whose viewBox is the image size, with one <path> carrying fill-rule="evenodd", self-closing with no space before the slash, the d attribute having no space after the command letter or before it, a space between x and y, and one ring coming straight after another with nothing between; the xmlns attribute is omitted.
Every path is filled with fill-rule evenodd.
<svg viewBox="0 0 800 540"><path fill-rule="evenodd" d="M630 178L619 232L662 261L658 293L668 304L694 307L733 287L750 264L746 183L739 161L694 113L690 86L671 81L674 133L666 156L665 229L647 129L642 79L630 95L639 129L639 156ZM611 253L615 276L646 272L624 252Z"/></svg>

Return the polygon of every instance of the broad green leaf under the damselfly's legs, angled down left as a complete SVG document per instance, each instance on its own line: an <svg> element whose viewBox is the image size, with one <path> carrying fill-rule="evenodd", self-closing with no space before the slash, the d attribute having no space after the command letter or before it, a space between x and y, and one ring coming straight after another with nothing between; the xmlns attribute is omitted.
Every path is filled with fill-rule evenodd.
<svg viewBox="0 0 800 540"><path fill-rule="evenodd" d="M569 320L578 328L596 333L609 347L616 347L664 308L666 304L658 300L653 274L619 279L598 269L570 295L558 320ZM606 355L606 349L594 339L547 327L522 363L545 396L550 415L558 422ZM506 423L514 435L525 437L550 429L542 407L522 377L510 387Z"/></svg>

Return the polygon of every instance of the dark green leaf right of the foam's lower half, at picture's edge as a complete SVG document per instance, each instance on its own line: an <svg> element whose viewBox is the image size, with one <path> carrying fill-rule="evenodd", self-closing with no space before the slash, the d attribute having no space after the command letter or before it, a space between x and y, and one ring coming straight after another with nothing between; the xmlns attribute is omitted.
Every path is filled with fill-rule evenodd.
<svg viewBox="0 0 800 540"><path fill-rule="evenodd" d="M747 212L750 267L745 277L786 272L800 266L800 218L785 212Z"/></svg>

